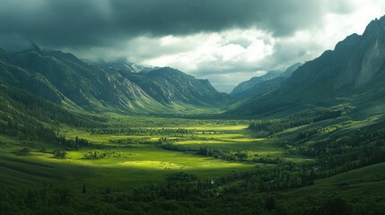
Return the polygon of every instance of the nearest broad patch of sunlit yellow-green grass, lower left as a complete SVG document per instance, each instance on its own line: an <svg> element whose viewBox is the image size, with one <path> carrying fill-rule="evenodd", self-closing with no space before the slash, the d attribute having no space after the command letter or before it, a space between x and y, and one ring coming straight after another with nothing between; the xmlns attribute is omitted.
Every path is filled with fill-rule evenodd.
<svg viewBox="0 0 385 215"><path fill-rule="evenodd" d="M177 151L162 150L151 145L139 145L136 148L108 148L105 150L116 150L121 154L118 158L107 159L84 159L86 151L93 149L68 151L66 159L55 159L51 153L39 152L32 149L26 156L16 156L10 151L21 150L22 147L15 145L7 148L7 154L14 160L9 163L6 175L0 176L0 180L20 182L19 177L31 178L29 183L38 185L55 184L97 187L114 186L123 190L160 183L170 173L188 172L200 178L214 178L223 176L233 171L247 171L255 168L253 164L229 162L220 159L206 158L185 154ZM1 149L4 152L4 149ZM1 159L1 158L0 158ZM28 160L29 164L22 164ZM4 161L2 161L4 165ZM45 164L49 169L40 167ZM3 167L2 165L0 165ZM4 167L3 167L4 168ZM49 175L46 174L48 171Z"/></svg>

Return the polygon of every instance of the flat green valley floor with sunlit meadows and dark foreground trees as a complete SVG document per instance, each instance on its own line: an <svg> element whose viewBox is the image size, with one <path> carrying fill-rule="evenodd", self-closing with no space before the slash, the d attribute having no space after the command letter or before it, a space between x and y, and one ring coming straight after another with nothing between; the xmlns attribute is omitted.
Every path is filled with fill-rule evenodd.
<svg viewBox="0 0 385 215"><path fill-rule="evenodd" d="M342 201L336 210L343 211L384 206L385 163L319 171L316 157L291 145L303 126L267 134L245 120L109 117L109 126L60 125L67 139L91 142L83 147L1 135L0 194L7 196L0 197L1 214L50 214L52 207L77 214L89 204L107 210L100 214L333 214L320 212L330 199ZM364 198L362 208L357 198Z"/></svg>

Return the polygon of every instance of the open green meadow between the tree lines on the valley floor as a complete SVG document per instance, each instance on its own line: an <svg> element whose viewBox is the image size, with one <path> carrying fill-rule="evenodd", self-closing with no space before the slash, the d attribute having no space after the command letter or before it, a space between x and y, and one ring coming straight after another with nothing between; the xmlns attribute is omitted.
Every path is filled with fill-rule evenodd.
<svg viewBox="0 0 385 215"><path fill-rule="evenodd" d="M151 127L155 129L154 127ZM169 127L172 128L172 127ZM221 139L219 142L178 142L188 147L211 145L221 150L263 150L272 153L279 147L264 139L249 137L246 125L188 126L188 130L197 132L198 137ZM202 131L217 131L221 134L203 134ZM248 171L256 164L225 161L187 154L179 151L162 150L152 144L117 144L111 141L143 136L91 134L82 130L64 127L61 130L66 137L79 136L102 146L102 149L69 150L66 159L56 159L50 151L55 150L49 143L13 140L2 137L0 147L0 180L13 185L70 185L83 184L98 190L101 187L116 187L130 190L135 187L160 183L170 173L186 172L202 179L223 176L235 171ZM201 133L201 134L199 134ZM157 142L162 135L146 136L151 142ZM172 137L171 137L172 138ZM27 153L18 153L28 148ZM41 151L44 148L45 151ZM84 159L87 151L114 151L118 156L104 159ZM24 178L28 178L25 180Z"/></svg>

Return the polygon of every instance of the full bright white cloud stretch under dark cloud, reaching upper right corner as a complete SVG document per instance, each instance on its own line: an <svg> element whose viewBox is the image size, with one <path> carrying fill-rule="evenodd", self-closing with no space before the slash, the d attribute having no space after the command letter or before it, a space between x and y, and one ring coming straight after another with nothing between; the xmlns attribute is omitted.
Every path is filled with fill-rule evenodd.
<svg viewBox="0 0 385 215"><path fill-rule="evenodd" d="M346 36L362 34L371 20L385 12L385 2L376 0L328 4L324 7L330 12L318 18L318 25L299 28L290 36L276 37L256 28L161 38L148 35L127 40L120 47L93 47L77 54L94 59L107 53L104 57L110 59L126 56L138 64L171 66L197 78L207 78L218 90L229 92L253 76L309 61L326 49L333 49Z"/></svg>

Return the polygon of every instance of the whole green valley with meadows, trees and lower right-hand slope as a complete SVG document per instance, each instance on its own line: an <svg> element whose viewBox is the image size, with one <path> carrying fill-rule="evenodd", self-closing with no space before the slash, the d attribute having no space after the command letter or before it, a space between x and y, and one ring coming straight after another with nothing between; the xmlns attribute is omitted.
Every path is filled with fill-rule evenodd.
<svg viewBox="0 0 385 215"><path fill-rule="evenodd" d="M22 197L22 207L35 211L28 202L38 201L38 213L64 206L66 213L75 213L91 204L105 210L103 213L115 214L190 210L306 214L325 210L328 198L342 201L338 207L363 210L355 208L360 205L367 211L369 200L382 201L381 192L372 195L372 190L381 187L385 178L381 171L369 169L381 168L385 161L385 133L381 128L384 118L353 120L350 111L333 114L340 108L302 111L290 119L265 121L114 114L96 118L101 121L84 116L92 124L57 126L58 136L74 142L87 140L83 145L2 135L0 181L8 196L3 199L8 206L2 210L14 210L15 205L8 201L32 192L35 194ZM276 120L291 126L276 130ZM267 129L256 130L257 124L267 124L258 126ZM357 133L367 129L371 132ZM13 190L13 185L25 188ZM35 188L28 188L32 186ZM336 190L333 186L344 190L325 193ZM41 199L41 192L47 200ZM60 197L63 192L65 202ZM352 192L371 197L356 203L356 199L346 198ZM301 193L314 193L314 199L302 199L307 195ZM231 208L223 205L227 198L232 199ZM251 199L255 202L248 202ZM206 203L202 206L201 201ZM266 201L275 203L267 206ZM294 211L288 208L289 203L303 201L312 206ZM162 209L155 202L161 203ZM234 202L239 204L234 207ZM131 206L125 208L122 204ZM381 205L373 211L381 211Z"/></svg>

